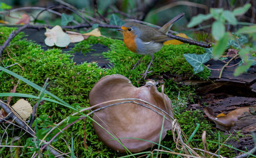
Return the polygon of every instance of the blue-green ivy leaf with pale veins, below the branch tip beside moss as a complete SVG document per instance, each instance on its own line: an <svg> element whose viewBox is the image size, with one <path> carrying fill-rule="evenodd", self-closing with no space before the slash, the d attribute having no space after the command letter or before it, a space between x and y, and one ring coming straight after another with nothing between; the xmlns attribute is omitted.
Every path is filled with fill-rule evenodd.
<svg viewBox="0 0 256 158"><path fill-rule="evenodd" d="M193 70L195 74L204 70L203 63L210 60L209 54L184 54L185 59L191 66L193 66Z"/></svg>

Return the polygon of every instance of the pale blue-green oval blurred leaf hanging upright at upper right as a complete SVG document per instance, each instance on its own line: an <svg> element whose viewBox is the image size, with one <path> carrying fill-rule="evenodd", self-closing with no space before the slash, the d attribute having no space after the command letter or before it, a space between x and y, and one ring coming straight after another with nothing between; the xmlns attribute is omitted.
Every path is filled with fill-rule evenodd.
<svg viewBox="0 0 256 158"><path fill-rule="evenodd" d="M216 40L220 40L225 33L225 26L221 21L214 21L211 28L211 34Z"/></svg>

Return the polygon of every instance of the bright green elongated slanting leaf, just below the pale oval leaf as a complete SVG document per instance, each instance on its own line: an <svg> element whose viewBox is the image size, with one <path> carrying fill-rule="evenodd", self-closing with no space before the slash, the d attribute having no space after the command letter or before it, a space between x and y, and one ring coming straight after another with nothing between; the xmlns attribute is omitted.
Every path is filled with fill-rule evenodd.
<svg viewBox="0 0 256 158"><path fill-rule="evenodd" d="M224 36L216 43L212 55L215 59L218 59L226 50L227 42L229 39L228 33L225 33Z"/></svg>

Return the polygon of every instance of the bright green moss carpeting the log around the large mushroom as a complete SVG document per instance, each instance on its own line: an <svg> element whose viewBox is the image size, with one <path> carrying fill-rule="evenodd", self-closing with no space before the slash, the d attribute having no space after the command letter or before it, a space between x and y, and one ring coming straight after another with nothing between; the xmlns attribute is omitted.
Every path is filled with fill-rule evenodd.
<svg viewBox="0 0 256 158"><path fill-rule="evenodd" d="M1 45L13 29L14 28L7 27L0 28ZM1 56L1 66L19 63L20 66L16 64L9 67L8 70L23 76L39 86L43 86L46 78L49 77L47 90L75 108L79 109L80 107L89 106L88 95L90 90L93 85L105 75L120 74L129 78L135 86L142 86L144 84L141 74L146 70L146 66L150 62L150 56L144 57L141 63L134 70L131 70L133 64L140 58L140 55L136 55L127 50L121 40L105 37L89 37L76 44L73 51L81 51L82 53L88 53L91 45L95 43L108 46L111 50L104 52L103 56L113 64L113 67L112 69L101 69L97 63L84 62L75 65L72 59L70 59L70 54L61 53L61 50L56 48L44 51L33 41L27 40L26 37L23 38L24 36L23 33L20 33L11 41L10 46L5 49ZM170 76L179 76L187 79L207 79L210 73L209 70L194 75L193 68L186 62L183 56L184 53L202 54L204 53L204 49L189 44L163 46L159 52L155 53L153 66L150 68L152 72L148 74L147 77L161 76L163 73L168 73ZM0 92L10 92L14 85L17 84L18 79L3 72L0 72L0 75ZM174 110L176 111L175 116L186 136L189 137L195 130L197 124L200 124L191 144L194 147L203 148L202 141L200 140L203 130L207 131L208 140L218 142L218 136L214 134L216 133L215 129L212 128L212 124L209 124L207 120L203 118L202 111L185 110L188 101L193 102L195 87L181 86L172 79L164 79L164 83L162 84L165 86L165 93L173 100ZM19 81L16 93L38 96L40 92L28 84ZM47 97L47 95L45 97ZM7 100L7 97L1 99ZM14 104L18 99L18 97L13 97L11 104ZM28 100L31 105L37 102L36 99L32 98L26 98L26 100ZM54 123L60 122L74 112L75 111L70 108L45 101L38 107L37 125L34 124L34 127L37 126L38 128L38 137L44 136L44 134L49 131L49 127L54 126ZM3 145L3 142L7 142L7 145L24 146L27 143L28 146L33 146L33 141L29 139L29 134L23 135L24 131L20 130L20 128L18 128L18 130L5 131L5 126L1 125L1 145ZM16 129L16 127L13 128ZM85 133L87 136L87 149L84 146L83 139ZM12 137L14 136L22 137L11 143ZM52 134L46 140L50 140L51 137ZM89 119L79 121L69 127L52 145L62 152L69 152L68 145L72 146L72 139L73 149L75 155L78 157L117 157L125 155L111 150L99 141ZM225 139L226 136L221 134L220 142L224 142ZM168 132L162 145L172 150L175 149L171 132ZM218 144L208 143L208 148L211 151L215 151L218 149ZM20 157L31 157L33 151L33 148L22 148L19 154ZM12 149L12 152L10 152L9 148L2 148L0 149L0 157L11 157L11 154L14 155L15 152L17 152L15 148ZM231 151L222 147L220 153L229 157ZM45 153L45 156L46 155L47 153Z"/></svg>

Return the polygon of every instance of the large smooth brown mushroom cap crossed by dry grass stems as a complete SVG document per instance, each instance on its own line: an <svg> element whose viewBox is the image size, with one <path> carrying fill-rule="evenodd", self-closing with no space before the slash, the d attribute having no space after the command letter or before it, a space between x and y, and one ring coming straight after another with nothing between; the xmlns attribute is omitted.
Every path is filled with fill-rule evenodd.
<svg viewBox="0 0 256 158"><path fill-rule="evenodd" d="M174 116L170 99L165 94L158 92L157 87L152 84L152 81L147 82L144 86L135 87L131 81L124 76L105 76L94 85L89 94L90 106L123 98L144 100L164 110L171 118ZM114 103L119 102L123 101L115 101ZM123 103L103 108L94 112L93 115L93 119L97 123L108 130L116 139L119 139L131 152L140 152L155 145L148 141L159 142L164 115L164 112L151 105L138 100L136 100L136 102L146 105L151 109L135 103ZM108 104L101 104L97 108L106 105ZM153 110L158 111L162 116ZM161 140L164 139L166 131L172 127L171 119L167 118L167 115L165 116L166 119L163 124ZM109 133L96 123L93 123L93 126L99 139L104 144L118 152L125 152L124 147L114 140Z"/></svg>

